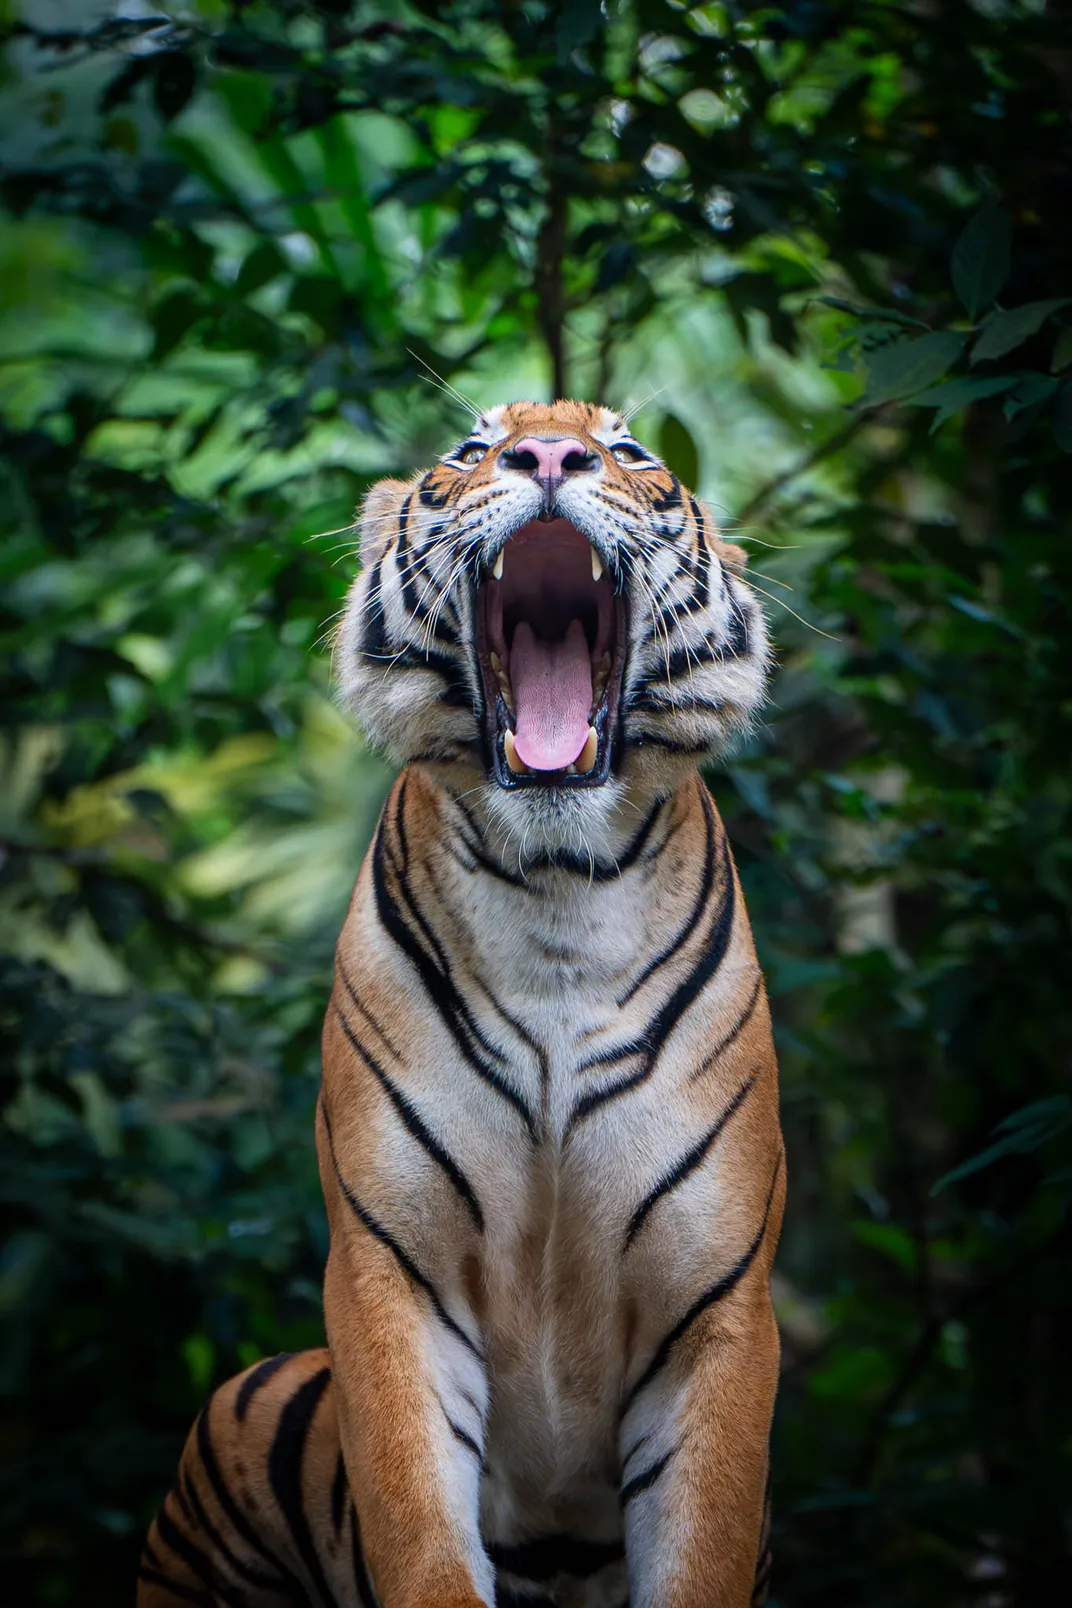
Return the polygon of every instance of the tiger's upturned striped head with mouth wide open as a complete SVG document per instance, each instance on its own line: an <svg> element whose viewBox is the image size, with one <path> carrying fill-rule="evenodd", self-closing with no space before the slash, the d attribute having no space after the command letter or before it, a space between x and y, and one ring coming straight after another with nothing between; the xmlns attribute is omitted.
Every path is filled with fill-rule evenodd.
<svg viewBox="0 0 1072 1608"><path fill-rule="evenodd" d="M620 413L511 402L381 481L336 642L344 698L537 852L604 844L763 696L768 642L696 497Z"/></svg>

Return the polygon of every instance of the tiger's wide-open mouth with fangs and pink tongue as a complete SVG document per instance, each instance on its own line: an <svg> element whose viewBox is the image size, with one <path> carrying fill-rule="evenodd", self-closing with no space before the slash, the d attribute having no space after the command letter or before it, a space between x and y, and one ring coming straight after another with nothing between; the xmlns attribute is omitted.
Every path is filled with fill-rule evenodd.
<svg viewBox="0 0 1072 1608"><path fill-rule="evenodd" d="M487 741L500 788L593 788L611 773L627 605L569 519L508 539L476 597Z"/></svg>

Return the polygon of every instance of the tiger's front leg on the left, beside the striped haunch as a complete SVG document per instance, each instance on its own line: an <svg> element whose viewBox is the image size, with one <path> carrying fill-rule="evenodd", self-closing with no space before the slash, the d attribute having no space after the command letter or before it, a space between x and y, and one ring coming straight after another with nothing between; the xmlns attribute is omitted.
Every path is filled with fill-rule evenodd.
<svg viewBox="0 0 1072 1608"><path fill-rule="evenodd" d="M379 1608L487 1608L479 1534L485 1375L477 1327L349 1183L321 1101L331 1225L325 1317L339 1434ZM455 1315L456 1314L456 1315Z"/></svg>

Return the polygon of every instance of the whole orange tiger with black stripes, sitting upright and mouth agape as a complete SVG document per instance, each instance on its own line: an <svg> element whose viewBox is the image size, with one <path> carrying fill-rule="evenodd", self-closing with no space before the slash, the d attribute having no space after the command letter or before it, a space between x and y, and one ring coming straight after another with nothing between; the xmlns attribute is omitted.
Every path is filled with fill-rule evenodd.
<svg viewBox="0 0 1072 1608"><path fill-rule="evenodd" d="M328 1348L201 1412L140 1608L744 1608L786 1193L699 765L770 671L741 548L587 402L386 479L334 658L400 765L336 950Z"/></svg>

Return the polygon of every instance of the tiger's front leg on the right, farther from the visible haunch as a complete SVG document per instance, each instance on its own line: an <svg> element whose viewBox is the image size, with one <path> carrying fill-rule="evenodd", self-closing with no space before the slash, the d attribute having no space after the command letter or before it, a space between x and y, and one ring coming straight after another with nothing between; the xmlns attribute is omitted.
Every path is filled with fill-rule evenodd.
<svg viewBox="0 0 1072 1608"><path fill-rule="evenodd" d="M693 1301L627 1388L622 1507L630 1608L765 1602L768 1438L779 1341L770 1262L779 1155L755 1237Z"/></svg>

